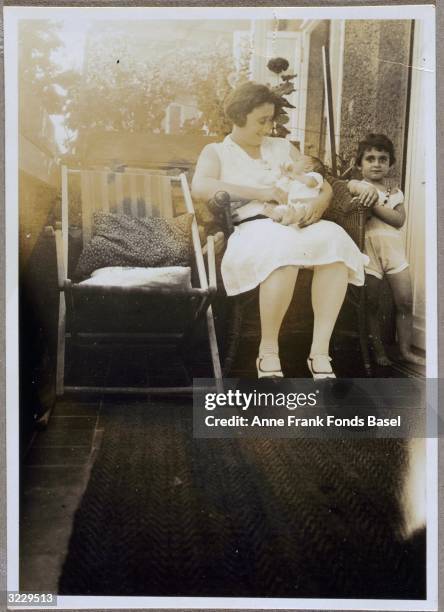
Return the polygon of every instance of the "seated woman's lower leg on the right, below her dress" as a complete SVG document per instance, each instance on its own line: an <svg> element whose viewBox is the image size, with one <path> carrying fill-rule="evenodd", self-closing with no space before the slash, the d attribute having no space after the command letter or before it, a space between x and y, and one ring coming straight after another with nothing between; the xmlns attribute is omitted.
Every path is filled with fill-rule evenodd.
<svg viewBox="0 0 444 612"><path fill-rule="evenodd" d="M331 371L325 356L329 354L330 338L347 291L348 270L343 263L315 266L311 284L314 313L313 342L310 355L318 355L316 370ZM324 356L324 357L322 357Z"/></svg>

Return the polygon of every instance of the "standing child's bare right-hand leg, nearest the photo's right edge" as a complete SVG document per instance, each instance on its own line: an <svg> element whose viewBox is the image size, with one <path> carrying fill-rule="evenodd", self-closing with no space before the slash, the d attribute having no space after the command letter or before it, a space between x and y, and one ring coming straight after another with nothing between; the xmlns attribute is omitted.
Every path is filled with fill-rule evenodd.
<svg viewBox="0 0 444 612"><path fill-rule="evenodd" d="M393 293L396 307L396 331L398 333L399 351L402 359L425 365L425 359L412 351L413 333L413 294L409 270L396 274L387 274L387 280Z"/></svg>

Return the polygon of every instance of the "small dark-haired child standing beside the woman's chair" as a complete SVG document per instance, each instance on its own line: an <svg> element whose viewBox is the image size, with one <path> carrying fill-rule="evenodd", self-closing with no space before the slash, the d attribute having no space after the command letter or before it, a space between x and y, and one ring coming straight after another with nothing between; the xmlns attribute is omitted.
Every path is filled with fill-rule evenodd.
<svg viewBox="0 0 444 612"><path fill-rule="evenodd" d="M424 365L424 359L411 348L413 296L409 264L400 232L406 216L404 195L400 189L388 187L386 182L394 163L392 141L383 134L369 134L359 143L356 154L356 165L361 170L363 180L348 183L350 192L363 201L368 200L374 190L378 195L365 231L365 253L370 259L365 267L369 335L378 365L390 365L381 340L379 317L381 280L385 276L395 302L401 358Z"/></svg>

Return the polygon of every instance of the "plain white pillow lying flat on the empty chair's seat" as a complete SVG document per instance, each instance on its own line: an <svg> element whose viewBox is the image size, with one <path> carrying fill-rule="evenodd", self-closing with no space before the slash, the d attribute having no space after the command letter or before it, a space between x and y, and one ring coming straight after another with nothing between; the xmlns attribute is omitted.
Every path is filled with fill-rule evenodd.
<svg viewBox="0 0 444 612"><path fill-rule="evenodd" d="M113 266L95 270L91 277L79 285L101 287L180 287L191 288L191 268L169 266L165 268L127 268Z"/></svg>

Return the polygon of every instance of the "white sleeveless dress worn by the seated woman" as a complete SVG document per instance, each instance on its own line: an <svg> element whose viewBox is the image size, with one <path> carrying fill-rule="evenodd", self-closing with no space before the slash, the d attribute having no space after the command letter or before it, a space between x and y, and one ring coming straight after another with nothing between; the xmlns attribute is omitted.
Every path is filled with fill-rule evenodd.
<svg viewBox="0 0 444 612"><path fill-rule="evenodd" d="M271 185L279 175L280 165L291 161L291 145L284 138L265 138L261 159L250 157L231 136L212 146L220 159L220 180L233 185ZM252 202L236 212L245 219L262 211L262 203ZM311 268L343 262L348 268L349 283L363 285L367 261L345 230L331 221L295 228L271 219L256 219L235 228L228 240L221 272L227 294L237 295L254 289L282 266Z"/></svg>

